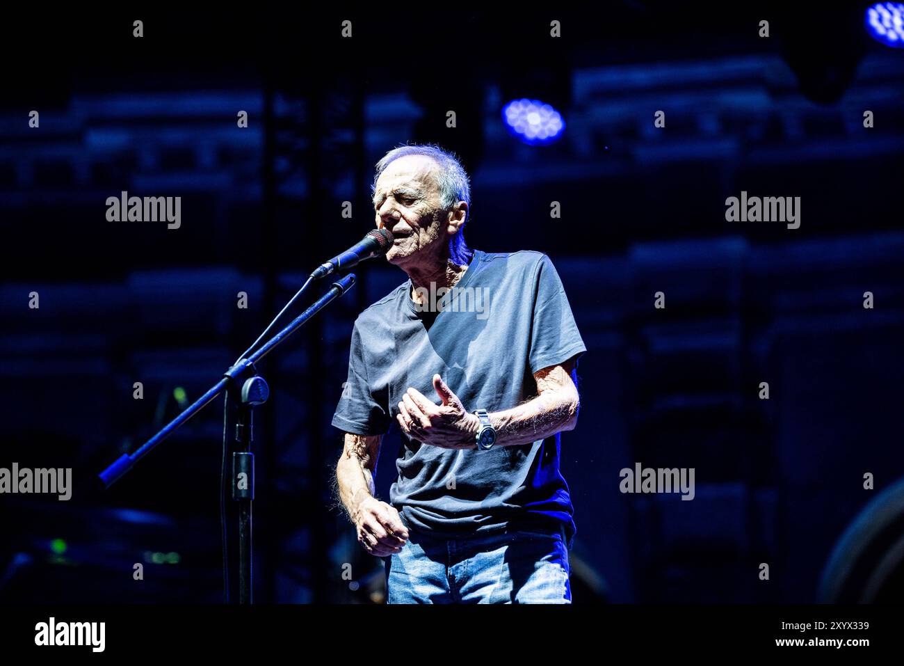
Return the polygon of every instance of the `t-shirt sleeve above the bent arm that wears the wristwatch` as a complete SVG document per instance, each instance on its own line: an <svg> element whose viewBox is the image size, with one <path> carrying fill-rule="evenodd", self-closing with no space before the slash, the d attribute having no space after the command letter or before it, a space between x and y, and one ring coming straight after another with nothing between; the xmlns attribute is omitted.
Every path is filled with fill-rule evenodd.
<svg viewBox="0 0 904 666"><path fill-rule="evenodd" d="M556 366L587 351L559 273L542 255L533 273L531 372Z"/></svg>

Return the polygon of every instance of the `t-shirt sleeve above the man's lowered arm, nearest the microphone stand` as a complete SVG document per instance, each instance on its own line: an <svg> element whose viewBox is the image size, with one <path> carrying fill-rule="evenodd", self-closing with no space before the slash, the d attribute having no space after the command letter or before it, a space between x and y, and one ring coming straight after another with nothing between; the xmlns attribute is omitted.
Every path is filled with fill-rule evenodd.
<svg viewBox="0 0 904 666"><path fill-rule="evenodd" d="M387 405L374 395L368 381L368 367L358 322L354 322L348 356L348 378L333 414L333 425L345 433L377 435L390 429Z"/></svg>

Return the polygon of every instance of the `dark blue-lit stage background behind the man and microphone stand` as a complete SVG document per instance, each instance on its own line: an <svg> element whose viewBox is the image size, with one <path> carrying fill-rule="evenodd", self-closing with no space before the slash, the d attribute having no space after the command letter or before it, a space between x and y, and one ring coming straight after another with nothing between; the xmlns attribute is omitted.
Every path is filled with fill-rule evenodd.
<svg viewBox="0 0 904 666"><path fill-rule="evenodd" d="M468 243L548 253L589 347L561 442L576 603L899 599L904 50L871 40L862 4L675 5L10 15L0 467L75 479L69 502L0 497L0 601L221 600L219 402L110 490L92 480L372 227L376 160L427 141L472 177ZM505 131L525 96L560 109L559 142ZM182 227L107 222L122 190L181 196ZM726 222L741 190L800 196L800 228ZM357 275L261 367L258 601L381 600L333 506L329 422L356 313L404 276ZM638 461L694 468L696 498L622 494Z"/></svg>

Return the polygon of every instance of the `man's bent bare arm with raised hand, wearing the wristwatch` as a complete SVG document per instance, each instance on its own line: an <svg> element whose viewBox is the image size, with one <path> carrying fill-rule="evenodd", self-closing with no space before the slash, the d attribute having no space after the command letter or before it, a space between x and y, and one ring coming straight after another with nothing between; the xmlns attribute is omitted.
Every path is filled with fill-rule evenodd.
<svg viewBox="0 0 904 666"><path fill-rule="evenodd" d="M574 429L580 406L574 366L574 359L570 358L564 363L541 368L533 374L537 383L536 397L489 415L496 431L496 446L536 442ZM440 376L433 377L433 387L442 404L430 402L417 389L408 389L399 403L397 420L400 428L425 444L445 449L476 448L480 420L466 411Z"/></svg>

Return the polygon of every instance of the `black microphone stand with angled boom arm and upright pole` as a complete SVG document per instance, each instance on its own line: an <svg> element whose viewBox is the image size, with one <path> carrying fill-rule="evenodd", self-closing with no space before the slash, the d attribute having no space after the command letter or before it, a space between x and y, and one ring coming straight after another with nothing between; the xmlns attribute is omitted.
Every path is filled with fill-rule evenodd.
<svg viewBox="0 0 904 666"><path fill-rule="evenodd" d="M210 404L223 391L230 391L239 400L239 415L235 427L235 439L238 442L237 451L232 452L232 499L239 502L239 603L251 603L251 504L254 501L254 453L251 446L254 443L254 409L267 402L269 386L267 381L258 374L254 366L261 358L267 356L279 343L292 335L298 328L305 325L308 319L320 310L324 309L336 298L344 295L354 284L355 276L349 273L343 278L334 281L333 286L323 296L315 301L314 305L306 309L297 318L293 319L286 328L283 328L275 336L270 338L263 347L247 358L240 358L234 366L231 366L222 376L221 380L212 385L208 391L190 404L182 414L176 416L167 423L158 433L134 453L124 453L119 459L101 471L99 476L104 486L109 488L127 471L131 470L135 463L144 458L154 447L163 442L169 435L183 425L186 421L200 412L207 404ZM227 590L228 593L228 590Z"/></svg>

